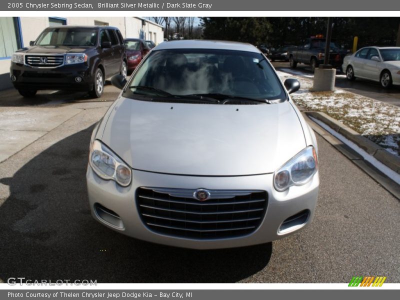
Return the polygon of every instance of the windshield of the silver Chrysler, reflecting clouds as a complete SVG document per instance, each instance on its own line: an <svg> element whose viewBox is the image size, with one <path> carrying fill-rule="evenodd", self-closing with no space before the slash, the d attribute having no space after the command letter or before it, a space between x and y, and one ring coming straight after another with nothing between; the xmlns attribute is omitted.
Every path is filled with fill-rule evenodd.
<svg viewBox="0 0 400 300"><path fill-rule="evenodd" d="M223 94L285 99L278 77L260 53L219 49L151 52L129 82L133 94ZM146 88L143 88L143 87Z"/></svg>

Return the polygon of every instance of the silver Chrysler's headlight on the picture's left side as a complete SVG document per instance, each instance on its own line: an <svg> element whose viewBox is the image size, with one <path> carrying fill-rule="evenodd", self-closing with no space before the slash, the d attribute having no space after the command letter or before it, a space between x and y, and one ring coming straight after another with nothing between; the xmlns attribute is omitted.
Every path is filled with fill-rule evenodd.
<svg viewBox="0 0 400 300"><path fill-rule="evenodd" d="M114 180L121 186L130 184L130 167L99 140L94 140L91 146L89 164L93 171L105 180Z"/></svg>

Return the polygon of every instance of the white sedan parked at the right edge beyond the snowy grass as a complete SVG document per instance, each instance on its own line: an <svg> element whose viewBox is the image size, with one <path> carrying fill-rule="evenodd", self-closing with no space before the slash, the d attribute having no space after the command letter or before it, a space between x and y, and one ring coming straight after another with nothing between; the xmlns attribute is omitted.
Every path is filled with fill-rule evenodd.
<svg viewBox="0 0 400 300"><path fill-rule="evenodd" d="M344 57L342 69L348 80L369 79L384 88L400 85L400 47L361 48Z"/></svg>

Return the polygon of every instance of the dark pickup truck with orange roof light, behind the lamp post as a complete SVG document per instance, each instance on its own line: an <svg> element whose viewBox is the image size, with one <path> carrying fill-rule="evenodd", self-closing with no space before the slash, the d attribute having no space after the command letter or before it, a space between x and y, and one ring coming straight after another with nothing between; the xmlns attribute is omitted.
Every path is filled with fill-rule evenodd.
<svg viewBox="0 0 400 300"><path fill-rule="evenodd" d="M338 47L333 41L330 42L329 62L333 67L341 67L343 57L347 54L346 50ZM289 64L295 68L297 63L309 64L312 72L323 63L325 57L325 38L315 36L307 38L303 45L292 48L289 52Z"/></svg>

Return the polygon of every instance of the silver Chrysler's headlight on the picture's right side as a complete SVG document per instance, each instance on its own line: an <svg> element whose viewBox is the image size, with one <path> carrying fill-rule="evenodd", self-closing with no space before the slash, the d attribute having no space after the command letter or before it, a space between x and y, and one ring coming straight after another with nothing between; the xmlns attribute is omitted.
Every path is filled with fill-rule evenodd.
<svg viewBox="0 0 400 300"><path fill-rule="evenodd" d="M315 148L308 146L275 171L273 185L278 191L283 191L292 185L302 185L311 179L317 169Z"/></svg>

